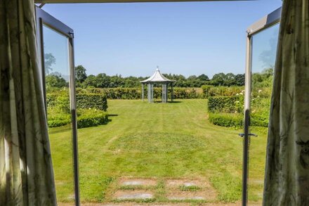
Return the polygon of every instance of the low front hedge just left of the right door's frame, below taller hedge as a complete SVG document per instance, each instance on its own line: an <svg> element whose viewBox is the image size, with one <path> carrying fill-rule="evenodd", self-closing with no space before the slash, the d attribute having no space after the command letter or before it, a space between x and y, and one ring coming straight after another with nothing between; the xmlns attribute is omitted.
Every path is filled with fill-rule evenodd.
<svg viewBox="0 0 309 206"><path fill-rule="evenodd" d="M221 127L241 128L244 125L244 116L239 113L209 113L209 122Z"/></svg>

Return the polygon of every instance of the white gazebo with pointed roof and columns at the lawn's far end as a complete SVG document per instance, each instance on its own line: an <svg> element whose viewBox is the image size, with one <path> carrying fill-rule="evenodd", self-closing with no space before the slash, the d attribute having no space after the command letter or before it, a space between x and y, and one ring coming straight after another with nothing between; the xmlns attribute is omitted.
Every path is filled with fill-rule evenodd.
<svg viewBox="0 0 309 206"><path fill-rule="evenodd" d="M140 81L142 83L142 100L144 101L144 86L145 84L148 84L148 89L147 89L147 97L148 97L148 102L152 103L153 102L153 85L154 84L162 84L162 103L167 102L167 92L168 92L168 86L169 84L171 85L171 101L173 101L173 82L176 82L171 79L167 79L164 77L160 70L159 67L157 67L157 70L155 71L155 74L153 74L151 77L148 79L145 79L143 81Z"/></svg>

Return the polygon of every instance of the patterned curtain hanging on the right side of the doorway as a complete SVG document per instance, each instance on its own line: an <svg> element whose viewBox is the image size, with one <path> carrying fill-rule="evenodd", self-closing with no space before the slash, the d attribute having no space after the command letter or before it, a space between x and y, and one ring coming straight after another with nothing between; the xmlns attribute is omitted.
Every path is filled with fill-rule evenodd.
<svg viewBox="0 0 309 206"><path fill-rule="evenodd" d="M263 205L309 205L309 1L284 0Z"/></svg>

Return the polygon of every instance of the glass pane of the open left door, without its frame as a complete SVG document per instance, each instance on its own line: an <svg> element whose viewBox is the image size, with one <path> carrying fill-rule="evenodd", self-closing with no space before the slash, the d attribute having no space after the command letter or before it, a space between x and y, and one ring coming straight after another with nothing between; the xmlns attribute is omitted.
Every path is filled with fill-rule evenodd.
<svg viewBox="0 0 309 206"><path fill-rule="evenodd" d="M70 60L67 37L43 27L48 133L58 202L74 204Z"/></svg>

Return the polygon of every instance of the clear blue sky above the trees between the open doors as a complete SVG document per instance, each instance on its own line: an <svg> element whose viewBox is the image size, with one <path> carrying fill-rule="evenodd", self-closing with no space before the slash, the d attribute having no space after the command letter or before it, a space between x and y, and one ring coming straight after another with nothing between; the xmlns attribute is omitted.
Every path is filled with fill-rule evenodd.
<svg viewBox="0 0 309 206"><path fill-rule="evenodd" d="M246 28L281 0L46 4L74 30L75 64L88 75L244 73ZM51 42L52 44L52 42ZM269 42L265 42L269 44ZM58 63L59 64L59 63Z"/></svg>

